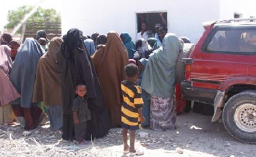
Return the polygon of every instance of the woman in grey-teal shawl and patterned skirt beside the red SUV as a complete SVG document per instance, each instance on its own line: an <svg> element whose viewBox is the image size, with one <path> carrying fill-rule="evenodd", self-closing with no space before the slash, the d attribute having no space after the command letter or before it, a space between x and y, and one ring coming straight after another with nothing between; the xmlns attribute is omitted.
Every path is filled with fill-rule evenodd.
<svg viewBox="0 0 256 157"><path fill-rule="evenodd" d="M182 44L178 37L168 33L163 46L150 54L144 71L141 87L151 94L150 127L156 131L175 129L175 65L180 51Z"/></svg>

